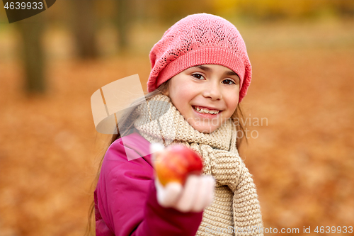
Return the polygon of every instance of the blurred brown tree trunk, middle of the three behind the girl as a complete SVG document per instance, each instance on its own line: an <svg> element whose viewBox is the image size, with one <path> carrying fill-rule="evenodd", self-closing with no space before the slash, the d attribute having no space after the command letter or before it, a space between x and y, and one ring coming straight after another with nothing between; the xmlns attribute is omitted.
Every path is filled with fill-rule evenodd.
<svg viewBox="0 0 354 236"><path fill-rule="evenodd" d="M96 16L93 11L93 0L72 1L74 10L74 36L76 48L81 59L98 57L98 50L95 40Z"/></svg>

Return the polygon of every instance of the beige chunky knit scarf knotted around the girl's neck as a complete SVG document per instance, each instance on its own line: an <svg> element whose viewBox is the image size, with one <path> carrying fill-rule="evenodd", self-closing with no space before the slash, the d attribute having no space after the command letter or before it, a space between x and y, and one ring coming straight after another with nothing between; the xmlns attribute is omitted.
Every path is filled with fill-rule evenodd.
<svg viewBox="0 0 354 236"><path fill-rule="evenodd" d="M263 235L261 210L251 174L236 149L236 127L227 120L212 133L195 130L168 96L139 105L135 128L149 142L180 143L198 152L203 174L215 177L215 198L205 208L196 235Z"/></svg>

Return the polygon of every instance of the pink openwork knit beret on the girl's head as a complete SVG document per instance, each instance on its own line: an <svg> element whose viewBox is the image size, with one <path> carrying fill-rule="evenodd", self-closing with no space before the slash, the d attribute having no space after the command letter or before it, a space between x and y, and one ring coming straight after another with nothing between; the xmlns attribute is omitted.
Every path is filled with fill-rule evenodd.
<svg viewBox="0 0 354 236"><path fill-rule="evenodd" d="M239 102L251 83L251 63L239 30L222 17L208 13L186 16L166 30L150 52L152 71L147 91L189 67L220 64L240 78Z"/></svg>

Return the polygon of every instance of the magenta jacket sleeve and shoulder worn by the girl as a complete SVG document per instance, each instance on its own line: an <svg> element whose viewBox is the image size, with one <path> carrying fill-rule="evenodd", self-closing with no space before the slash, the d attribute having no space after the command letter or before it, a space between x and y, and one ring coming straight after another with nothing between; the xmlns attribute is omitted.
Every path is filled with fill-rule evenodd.
<svg viewBox="0 0 354 236"><path fill-rule="evenodd" d="M149 141L135 132L105 153L94 193L97 236L195 235L202 212L164 208L156 199ZM134 157L130 161L127 155ZM137 157L135 159L135 157Z"/></svg>

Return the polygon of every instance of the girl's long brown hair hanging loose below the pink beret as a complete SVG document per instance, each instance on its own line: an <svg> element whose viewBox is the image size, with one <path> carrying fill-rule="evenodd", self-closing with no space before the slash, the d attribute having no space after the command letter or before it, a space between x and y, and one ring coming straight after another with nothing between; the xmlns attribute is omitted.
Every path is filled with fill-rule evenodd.
<svg viewBox="0 0 354 236"><path fill-rule="evenodd" d="M125 137L126 135L129 135L132 132L132 130L134 128L134 121L137 118L137 115L132 116L132 113L135 110L135 108L137 108L137 106L141 105L142 103L149 101L157 94L166 94L166 91L168 91L168 89L169 89L169 82L170 81L171 81L171 79L167 80L166 82L161 84L159 86L159 88L155 89L154 91L146 94L144 97L139 98L135 102L132 103L134 105L131 106L129 109L127 109L127 111L125 111L125 113L122 114L122 116L118 120L118 127L120 128L120 130L118 130L118 127L117 127L118 133L113 134L110 137L110 140L105 145L105 152L107 152L108 147L110 147L110 145L112 145L112 143L115 140L120 139L120 137ZM239 122L239 120L244 120L244 114L241 111L240 104L237 105L236 110L234 111L234 113L231 116L231 119L232 119L233 123L236 124L237 133L241 132L241 137L237 137L237 140L236 140L236 147L237 147L237 149L239 149L241 142L243 142L243 140L246 140L246 143L248 144L248 140L246 138L245 131L244 131L245 127L242 122ZM103 154L103 157L101 158L101 162L98 167L98 172L96 174L96 178L93 181L94 186L97 186L98 178L100 176L102 162L103 162L104 157L105 157L105 153ZM88 223L88 227L86 228L85 235L89 235L91 232L92 224L94 223L94 210L95 210L95 202L93 201L91 203L90 208L89 208L89 218L88 218L89 223Z"/></svg>

